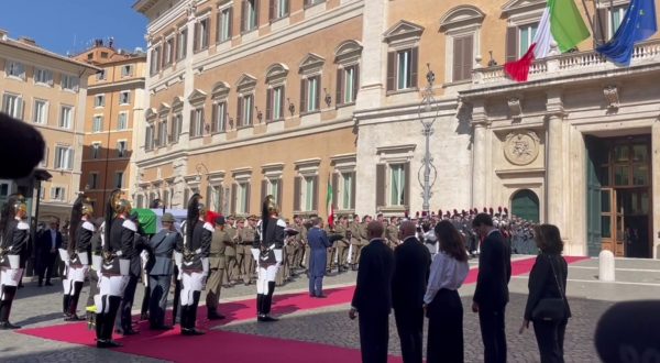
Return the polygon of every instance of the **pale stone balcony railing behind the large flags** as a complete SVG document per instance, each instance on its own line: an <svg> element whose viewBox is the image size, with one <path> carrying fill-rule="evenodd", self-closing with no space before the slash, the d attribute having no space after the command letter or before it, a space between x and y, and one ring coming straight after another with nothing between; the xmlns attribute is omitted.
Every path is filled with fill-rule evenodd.
<svg viewBox="0 0 660 363"><path fill-rule="evenodd" d="M635 46L630 66L649 63L660 64L660 40L647 41ZM600 72L617 69L619 66L605 59L595 51L565 53L536 61L529 68L529 81L584 74L585 72ZM472 72L472 88L502 86L514 84L504 73L503 66L475 67Z"/></svg>

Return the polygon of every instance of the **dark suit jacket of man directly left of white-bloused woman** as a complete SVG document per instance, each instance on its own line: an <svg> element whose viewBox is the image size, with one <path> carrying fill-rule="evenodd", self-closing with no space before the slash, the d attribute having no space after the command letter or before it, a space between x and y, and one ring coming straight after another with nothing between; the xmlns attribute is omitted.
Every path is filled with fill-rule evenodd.
<svg viewBox="0 0 660 363"><path fill-rule="evenodd" d="M429 250L409 237L394 250L392 302L394 309L421 309L431 265Z"/></svg>

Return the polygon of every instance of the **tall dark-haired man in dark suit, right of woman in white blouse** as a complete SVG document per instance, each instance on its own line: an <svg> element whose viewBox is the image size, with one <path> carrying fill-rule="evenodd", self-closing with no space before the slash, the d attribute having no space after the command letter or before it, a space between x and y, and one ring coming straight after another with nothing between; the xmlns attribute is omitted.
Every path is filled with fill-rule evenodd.
<svg viewBox="0 0 660 363"><path fill-rule="evenodd" d="M484 362L502 363L506 362L504 321L509 299L512 251L499 230L493 227L493 218L490 215L477 215L472 221L472 227L482 239L472 311L479 312Z"/></svg>

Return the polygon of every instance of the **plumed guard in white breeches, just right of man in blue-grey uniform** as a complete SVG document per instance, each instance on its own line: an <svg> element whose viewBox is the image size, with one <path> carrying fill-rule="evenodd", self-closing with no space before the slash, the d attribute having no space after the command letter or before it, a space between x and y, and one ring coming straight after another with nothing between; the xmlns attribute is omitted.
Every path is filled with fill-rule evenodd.
<svg viewBox="0 0 660 363"><path fill-rule="evenodd" d="M195 194L188 201L188 216L184 230L183 253L175 254L182 279L182 334L201 336L202 331L195 328L197 306L201 290L209 276L209 251L213 235L213 226L205 221L206 207Z"/></svg>

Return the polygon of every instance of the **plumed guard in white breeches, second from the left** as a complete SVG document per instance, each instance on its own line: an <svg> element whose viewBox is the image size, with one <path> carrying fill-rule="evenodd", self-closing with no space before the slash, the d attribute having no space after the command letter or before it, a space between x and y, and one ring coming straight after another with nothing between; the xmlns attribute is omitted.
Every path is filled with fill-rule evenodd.
<svg viewBox="0 0 660 363"><path fill-rule="evenodd" d="M79 196L72 209L68 243L68 266L66 285L64 287L64 305L66 307L66 321L82 320L76 314L78 299L85 278L91 263L91 238L96 227L91 223L94 208L91 201L85 196Z"/></svg>

